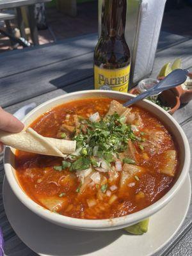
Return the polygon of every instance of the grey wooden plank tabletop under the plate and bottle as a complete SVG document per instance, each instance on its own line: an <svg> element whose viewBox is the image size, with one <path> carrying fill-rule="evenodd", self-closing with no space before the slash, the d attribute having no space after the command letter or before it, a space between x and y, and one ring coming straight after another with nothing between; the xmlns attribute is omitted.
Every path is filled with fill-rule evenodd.
<svg viewBox="0 0 192 256"><path fill-rule="evenodd" d="M36 102L38 105L45 100L52 99L66 92L92 89L93 49L96 42L97 35L92 34L70 38L57 44L42 45L31 49L1 54L0 105L6 111L14 113L30 102ZM154 69L150 77L156 77L164 63L173 61L175 58L181 58L182 67L192 71L191 56L191 38L161 33ZM182 106L173 117L184 129L191 147L192 101L186 106ZM6 255L36 255L20 241L6 218L2 199L3 177L4 170L1 161L0 226L3 229ZM191 241L192 205L190 205L187 218L177 234L155 256L192 255Z"/></svg>

